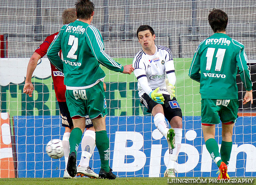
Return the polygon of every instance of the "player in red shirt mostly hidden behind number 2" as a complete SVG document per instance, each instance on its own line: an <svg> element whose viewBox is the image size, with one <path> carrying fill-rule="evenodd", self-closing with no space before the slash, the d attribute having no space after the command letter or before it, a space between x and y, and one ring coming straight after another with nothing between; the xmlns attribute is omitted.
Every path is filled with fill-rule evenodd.
<svg viewBox="0 0 256 185"><path fill-rule="evenodd" d="M76 9L68 8L67 10L63 11L62 19L63 19L63 24L69 24L74 22L76 20ZM23 92L28 94L29 97L32 97L32 92L34 90L34 86L31 82L31 78L35 70L35 67L37 66L37 62L39 59L45 56L50 44L52 43L52 41L57 35L58 35L58 32L46 37L44 42L35 50L34 54L31 56L29 60L29 64L27 66L27 75L26 75L25 85L23 88ZM59 54L60 54L60 58L62 59L61 51ZM69 156L69 135L71 133L71 130L73 129L73 122L70 117L67 103L66 103L66 97L65 97L66 86L63 83L64 74L63 72L57 70L56 67L54 67L52 64L50 65L52 70L54 91L60 107L62 126L65 127L65 133L63 134L63 139L62 139L64 157L65 157L65 171L64 171L63 178L71 178L71 176L69 176L69 174L67 173L66 169L67 169L67 162L68 162L68 156ZM106 90L105 84L104 84L104 90ZM81 177L87 176L90 178L98 178L98 174L94 173L89 166L90 157L93 154L93 151L96 146L95 145L95 129L93 127L93 123L89 119L89 116L86 118L87 118L86 119L87 129L84 132L84 136L82 139L82 156L77 168L77 175Z"/></svg>

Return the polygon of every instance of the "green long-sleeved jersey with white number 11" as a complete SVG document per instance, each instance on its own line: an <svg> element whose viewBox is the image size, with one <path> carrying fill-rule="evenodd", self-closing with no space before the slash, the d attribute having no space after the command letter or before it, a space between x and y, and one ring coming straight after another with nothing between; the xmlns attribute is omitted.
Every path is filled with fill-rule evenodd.
<svg viewBox="0 0 256 185"><path fill-rule="evenodd" d="M199 44L188 75L200 82L202 99L237 99L237 66L246 90L252 90L247 62L243 44L215 33Z"/></svg>

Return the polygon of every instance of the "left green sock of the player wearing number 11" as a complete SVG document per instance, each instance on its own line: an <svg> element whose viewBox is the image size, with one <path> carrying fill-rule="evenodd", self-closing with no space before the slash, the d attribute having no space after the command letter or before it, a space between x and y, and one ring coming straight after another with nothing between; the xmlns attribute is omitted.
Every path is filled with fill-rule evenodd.
<svg viewBox="0 0 256 185"><path fill-rule="evenodd" d="M211 154L211 158L214 160L214 162L219 167L221 165L221 156L219 155L219 146L215 139L210 138L205 142L206 148Z"/></svg>

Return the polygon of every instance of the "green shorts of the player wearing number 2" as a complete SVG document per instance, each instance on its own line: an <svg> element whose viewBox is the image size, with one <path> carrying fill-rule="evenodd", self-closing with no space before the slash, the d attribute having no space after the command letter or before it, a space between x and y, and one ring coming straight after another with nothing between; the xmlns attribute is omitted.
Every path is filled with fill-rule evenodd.
<svg viewBox="0 0 256 185"><path fill-rule="evenodd" d="M108 114L103 82L86 89L66 90L66 101L71 118L89 115L93 119Z"/></svg>

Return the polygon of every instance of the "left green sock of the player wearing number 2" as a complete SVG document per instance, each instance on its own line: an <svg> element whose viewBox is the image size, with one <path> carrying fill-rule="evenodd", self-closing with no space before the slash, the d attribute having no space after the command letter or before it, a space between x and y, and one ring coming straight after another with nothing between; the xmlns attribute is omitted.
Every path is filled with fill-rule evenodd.
<svg viewBox="0 0 256 185"><path fill-rule="evenodd" d="M78 146L82 140L82 130L78 127L74 128L69 136L69 147L70 147L70 152L69 154L71 154L72 151L74 151L76 153L77 156L77 150L78 150Z"/></svg>

